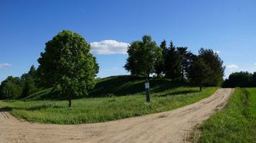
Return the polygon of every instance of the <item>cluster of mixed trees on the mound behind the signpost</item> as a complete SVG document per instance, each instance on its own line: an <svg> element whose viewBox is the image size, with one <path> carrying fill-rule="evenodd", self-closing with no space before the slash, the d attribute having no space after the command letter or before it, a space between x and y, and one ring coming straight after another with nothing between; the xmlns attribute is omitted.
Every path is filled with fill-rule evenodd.
<svg viewBox="0 0 256 143"><path fill-rule="evenodd" d="M172 81L186 81L192 85L220 86L223 82L223 61L211 49L201 48L198 55L187 47L176 47L166 40L157 45L151 36L145 35L141 41L131 42L125 69L131 75L159 78Z"/></svg>

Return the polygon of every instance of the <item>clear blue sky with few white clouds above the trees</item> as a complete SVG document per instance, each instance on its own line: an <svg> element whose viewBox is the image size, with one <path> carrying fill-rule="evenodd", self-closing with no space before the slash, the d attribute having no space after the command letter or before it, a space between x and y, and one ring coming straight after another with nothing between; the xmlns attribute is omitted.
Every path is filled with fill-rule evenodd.
<svg viewBox="0 0 256 143"><path fill-rule="evenodd" d="M212 48L226 75L256 71L254 0L0 1L0 81L38 65L45 43L63 29L83 35L100 65L99 77L128 74L125 45L152 35L158 44Z"/></svg>

